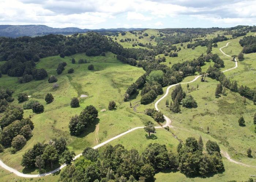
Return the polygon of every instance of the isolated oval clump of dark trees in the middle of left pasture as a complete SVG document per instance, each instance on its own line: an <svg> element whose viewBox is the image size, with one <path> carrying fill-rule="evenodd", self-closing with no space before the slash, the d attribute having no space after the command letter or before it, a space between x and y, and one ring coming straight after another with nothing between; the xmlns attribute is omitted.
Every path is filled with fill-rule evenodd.
<svg viewBox="0 0 256 182"><path fill-rule="evenodd" d="M98 111L92 105L86 106L86 108L80 113L80 115L75 115L70 119L69 131L71 135L82 134L88 126L93 124L95 118L98 117Z"/></svg>

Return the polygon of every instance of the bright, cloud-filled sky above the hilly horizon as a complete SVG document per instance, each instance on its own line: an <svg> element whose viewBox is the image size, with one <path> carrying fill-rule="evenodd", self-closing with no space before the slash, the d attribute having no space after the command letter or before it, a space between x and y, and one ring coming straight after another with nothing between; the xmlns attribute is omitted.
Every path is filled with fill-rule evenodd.
<svg viewBox="0 0 256 182"><path fill-rule="evenodd" d="M0 24L54 28L256 25L256 0L0 0Z"/></svg>

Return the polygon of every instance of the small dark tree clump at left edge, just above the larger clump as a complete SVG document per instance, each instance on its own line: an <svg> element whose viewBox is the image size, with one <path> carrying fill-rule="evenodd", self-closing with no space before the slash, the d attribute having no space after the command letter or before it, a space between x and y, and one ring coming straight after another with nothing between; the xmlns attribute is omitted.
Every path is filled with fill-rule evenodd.
<svg viewBox="0 0 256 182"><path fill-rule="evenodd" d="M0 87L0 113L6 110L9 102L14 101L12 98L12 93L12 90Z"/></svg>

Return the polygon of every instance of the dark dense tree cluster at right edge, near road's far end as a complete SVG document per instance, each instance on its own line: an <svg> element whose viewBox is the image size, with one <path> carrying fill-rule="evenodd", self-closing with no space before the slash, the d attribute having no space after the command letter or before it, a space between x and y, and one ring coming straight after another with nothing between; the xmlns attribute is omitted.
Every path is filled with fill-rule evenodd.
<svg viewBox="0 0 256 182"><path fill-rule="evenodd" d="M242 52L245 54L256 52L256 37L255 36L245 36L239 41L240 45L243 47Z"/></svg>

